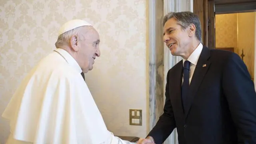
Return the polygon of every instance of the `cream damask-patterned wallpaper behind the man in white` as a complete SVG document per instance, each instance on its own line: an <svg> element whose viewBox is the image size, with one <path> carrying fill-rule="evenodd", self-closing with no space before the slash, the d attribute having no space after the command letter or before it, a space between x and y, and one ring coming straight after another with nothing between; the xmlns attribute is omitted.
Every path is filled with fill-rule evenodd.
<svg viewBox="0 0 256 144"><path fill-rule="evenodd" d="M80 18L100 34L101 56L86 82L110 131L144 137L148 129L147 0L0 0L0 115L14 90L55 49L58 28ZM142 126L129 109L142 109ZM0 143L9 134L0 117Z"/></svg>

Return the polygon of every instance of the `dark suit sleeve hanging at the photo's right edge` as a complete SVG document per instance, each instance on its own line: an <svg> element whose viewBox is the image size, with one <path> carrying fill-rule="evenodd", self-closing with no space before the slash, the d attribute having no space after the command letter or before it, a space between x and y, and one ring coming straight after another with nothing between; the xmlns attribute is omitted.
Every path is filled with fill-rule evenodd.
<svg viewBox="0 0 256 144"><path fill-rule="evenodd" d="M256 93L254 83L241 58L232 53L223 73L223 90L239 144L256 144Z"/></svg>

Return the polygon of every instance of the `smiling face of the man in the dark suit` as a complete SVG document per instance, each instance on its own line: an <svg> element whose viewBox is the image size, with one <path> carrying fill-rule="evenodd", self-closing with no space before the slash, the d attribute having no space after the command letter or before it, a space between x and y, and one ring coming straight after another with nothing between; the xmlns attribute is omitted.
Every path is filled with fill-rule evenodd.
<svg viewBox="0 0 256 144"><path fill-rule="evenodd" d="M184 56L191 39L189 37L189 27L183 29L175 18L170 18L164 24L163 40L174 56Z"/></svg>

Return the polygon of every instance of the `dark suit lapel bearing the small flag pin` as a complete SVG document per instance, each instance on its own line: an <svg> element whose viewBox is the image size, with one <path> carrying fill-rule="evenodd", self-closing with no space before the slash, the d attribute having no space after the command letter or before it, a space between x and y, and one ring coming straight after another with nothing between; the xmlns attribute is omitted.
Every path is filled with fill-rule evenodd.
<svg viewBox="0 0 256 144"><path fill-rule="evenodd" d="M208 68L210 67L210 61L208 61L209 58L210 58L210 50L204 46L199 56L198 62L196 64L196 68L192 76L192 80L190 82L190 88L189 88L188 100L187 100L188 107L185 110L185 118L188 115L188 112L190 110L194 97L204 78L204 75L206 74Z"/></svg>

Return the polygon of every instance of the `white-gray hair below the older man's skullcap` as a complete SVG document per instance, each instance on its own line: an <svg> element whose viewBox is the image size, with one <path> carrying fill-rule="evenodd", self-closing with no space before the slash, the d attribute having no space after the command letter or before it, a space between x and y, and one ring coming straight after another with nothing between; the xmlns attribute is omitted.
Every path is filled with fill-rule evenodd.
<svg viewBox="0 0 256 144"><path fill-rule="evenodd" d="M78 40L82 40L83 35L81 32L81 28L82 26L78 28L74 28L72 30L69 30L59 35L57 41L55 42L56 48L60 48L61 46L68 45L70 43L71 36L74 36L74 35L78 36Z"/></svg>

